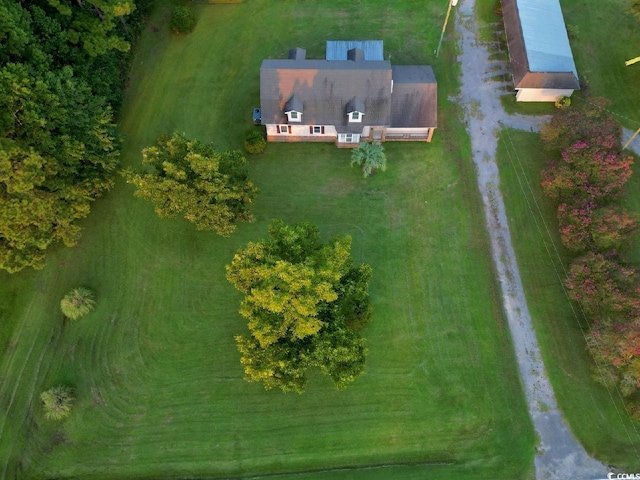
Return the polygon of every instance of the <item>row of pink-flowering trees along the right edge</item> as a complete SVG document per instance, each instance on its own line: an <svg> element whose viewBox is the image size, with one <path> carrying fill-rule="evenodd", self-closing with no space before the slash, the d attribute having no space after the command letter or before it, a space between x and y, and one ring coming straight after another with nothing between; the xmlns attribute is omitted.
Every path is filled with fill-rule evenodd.
<svg viewBox="0 0 640 480"><path fill-rule="evenodd" d="M560 110L541 132L550 160L542 188L557 204L563 245L574 258L564 281L586 317L594 378L619 389L640 419L640 274L624 251L638 233L638 215L620 199L633 158L624 154L620 126L593 99Z"/></svg>

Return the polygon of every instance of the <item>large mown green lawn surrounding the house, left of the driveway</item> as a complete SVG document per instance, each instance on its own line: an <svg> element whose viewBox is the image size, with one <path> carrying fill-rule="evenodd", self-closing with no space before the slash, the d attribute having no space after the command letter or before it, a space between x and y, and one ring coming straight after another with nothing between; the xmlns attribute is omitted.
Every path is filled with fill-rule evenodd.
<svg viewBox="0 0 640 480"><path fill-rule="evenodd" d="M269 145L251 159L256 221L229 239L158 219L119 181L77 247L40 272L0 275L10 332L0 338L0 478L530 477L535 436L469 145L447 100L455 51L447 40L433 58L444 12L429 5L202 5L183 38L167 35L167 9L157 12L121 115L125 165L171 131L237 148L258 105L261 59L292 46L321 56L344 32L382 38L394 63L432 64L440 128L430 145L387 144L389 168L367 181L331 144ZM346 391L319 375L302 396L242 380L233 336L246 326L224 265L272 217L313 221L325 238L350 234L355 260L373 267L367 371ZM98 307L64 322L60 298L80 285ZM78 401L51 424L38 395L58 383L74 385Z"/></svg>

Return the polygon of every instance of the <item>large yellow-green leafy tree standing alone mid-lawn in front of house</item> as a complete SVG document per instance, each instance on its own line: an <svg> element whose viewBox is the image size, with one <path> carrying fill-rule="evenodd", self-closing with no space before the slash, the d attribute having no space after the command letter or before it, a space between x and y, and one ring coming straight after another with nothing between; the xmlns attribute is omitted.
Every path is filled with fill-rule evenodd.
<svg viewBox="0 0 640 480"><path fill-rule="evenodd" d="M371 268L353 265L348 236L322 243L315 225L278 220L269 233L227 266L245 294L240 313L251 335L236 337L245 378L301 393L307 371L318 368L344 388L364 370L356 328L370 316Z"/></svg>

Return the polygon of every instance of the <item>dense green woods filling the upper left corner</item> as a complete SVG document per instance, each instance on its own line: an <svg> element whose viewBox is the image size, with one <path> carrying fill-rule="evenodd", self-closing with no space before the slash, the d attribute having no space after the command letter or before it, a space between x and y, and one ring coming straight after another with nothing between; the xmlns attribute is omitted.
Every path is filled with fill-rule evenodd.
<svg viewBox="0 0 640 480"><path fill-rule="evenodd" d="M41 268L113 185L114 110L153 0L0 0L0 268Z"/></svg>

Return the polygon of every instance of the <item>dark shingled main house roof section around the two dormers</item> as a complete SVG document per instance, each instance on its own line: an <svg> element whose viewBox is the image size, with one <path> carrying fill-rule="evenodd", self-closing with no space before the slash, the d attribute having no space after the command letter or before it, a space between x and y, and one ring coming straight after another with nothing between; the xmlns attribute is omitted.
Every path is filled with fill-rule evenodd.
<svg viewBox="0 0 640 480"><path fill-rule="evenodd" d="M303 125L335 125L339 133L364 125L389 125L391 64L388 61L264 60L260 67L263 124L287 123L285 103L296 95L304 103ZM366 115L349 125L345 107L358 97Z"/></svg>

